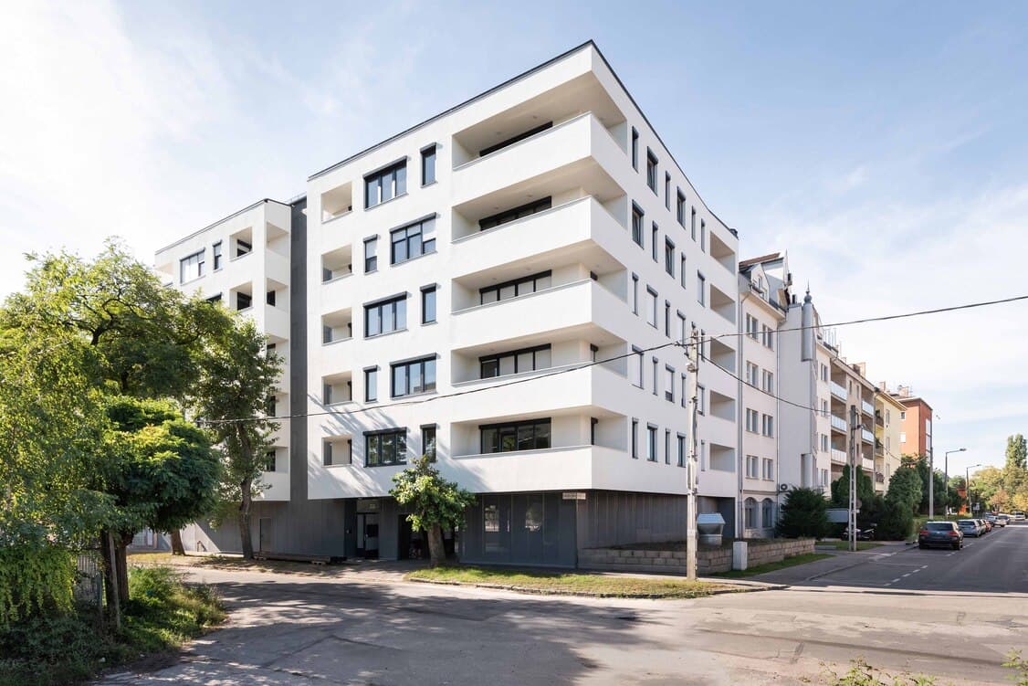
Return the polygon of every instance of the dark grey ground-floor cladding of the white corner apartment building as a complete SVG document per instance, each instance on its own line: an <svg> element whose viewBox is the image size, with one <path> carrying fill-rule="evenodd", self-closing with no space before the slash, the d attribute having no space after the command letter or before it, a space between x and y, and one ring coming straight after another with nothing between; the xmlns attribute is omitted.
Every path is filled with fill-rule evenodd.
<svg viewBox="0 0 1028 686"><path fill-rule="evenodd" d="M700 511L722 511L731 522L731 499L701 501ZM425 556L427 545L406 515L392 498L258 503L254 547L351 559ZM462 530L447 532L445 542L448 552L469 563L576 567L582 549L685 537L684 496L587 491L482 494L468 508ZM241 548L234 523L193 525L183 543L207 552Z"/></svg>

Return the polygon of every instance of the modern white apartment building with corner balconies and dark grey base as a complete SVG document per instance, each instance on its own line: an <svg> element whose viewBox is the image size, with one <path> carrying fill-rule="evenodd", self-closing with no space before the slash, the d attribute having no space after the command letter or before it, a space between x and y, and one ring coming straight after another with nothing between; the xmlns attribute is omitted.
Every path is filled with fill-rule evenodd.
<svg viewBox="0 0 1028 686"><path fill-rule="evenodd" d="M675 344L694 327L728 334L699 365L699 511L736 529L737 248L590 41L157 264L288 350L279 404L305 417L268 463L263 549L407 556L417 533L389 491L428 454L478 495L448 537L463 559L570 567L585 547L685 538ZM187 545L237 548L230 529L193 527Z"/></svg>

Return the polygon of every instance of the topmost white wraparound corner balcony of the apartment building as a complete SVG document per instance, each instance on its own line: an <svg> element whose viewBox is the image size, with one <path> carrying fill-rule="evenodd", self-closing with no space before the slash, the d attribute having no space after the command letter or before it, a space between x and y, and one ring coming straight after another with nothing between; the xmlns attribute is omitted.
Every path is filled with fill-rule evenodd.
<svg viewBox="0 0 1028 686"><path fill-rule="evenodd" d="M586 112L455 167L453 205L568 174L579 175L579 185L589 194L615 196L622 191L605 170L618 169L624 161L624 152L600 120Z"/></svg>

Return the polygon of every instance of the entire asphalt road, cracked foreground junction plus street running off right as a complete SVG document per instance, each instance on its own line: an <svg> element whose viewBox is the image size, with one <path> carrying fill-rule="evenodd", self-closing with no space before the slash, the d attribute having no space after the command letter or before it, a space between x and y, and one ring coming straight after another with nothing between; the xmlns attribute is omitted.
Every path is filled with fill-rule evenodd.
<svg viewBox="0 0 1028 686"><path fill-rule="evenodd" d="M1028 593L968 590L979 582L965 577L1023 585L1028 527L990 536L952 556L868 555L822 587L695 601L203 570L194 577L217 585L230 624L172 666L101 683L809 684L864 656L941 684L1009 684L1000 664L1028 647Z"/></svg>

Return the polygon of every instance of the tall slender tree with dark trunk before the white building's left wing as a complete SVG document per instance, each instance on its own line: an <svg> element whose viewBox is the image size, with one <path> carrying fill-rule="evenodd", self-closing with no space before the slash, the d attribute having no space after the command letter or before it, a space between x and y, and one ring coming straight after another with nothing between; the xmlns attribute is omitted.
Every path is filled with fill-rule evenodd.
<svg viewBox="0 0 1028 686"><path fill-rule="evenodd" d="M253 321L232 317L221 306L210 310L216 311L212 316L222 317L222 325L206 342L193 393L196 411L214 433L224 467L212 514L217 521L234 510L243 556L252 559L253 499L264 489L264 456L280 426L268 402L282 363L267 355L267 337Z"/></svg>

